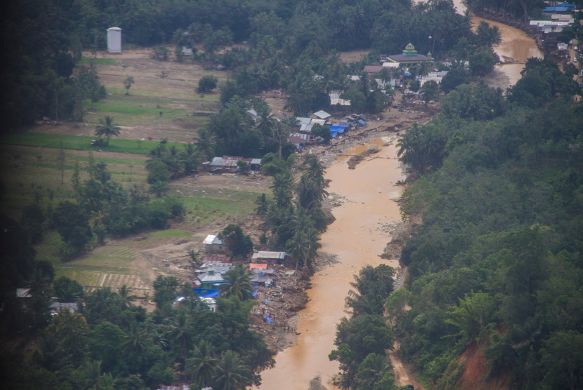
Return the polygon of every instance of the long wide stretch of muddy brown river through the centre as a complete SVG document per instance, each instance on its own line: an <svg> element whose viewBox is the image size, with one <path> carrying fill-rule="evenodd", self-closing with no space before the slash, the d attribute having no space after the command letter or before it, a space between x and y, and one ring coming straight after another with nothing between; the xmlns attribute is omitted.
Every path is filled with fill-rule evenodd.
<svg viewBox="0 0 583 390"><path fill-rule="evenodd" d="M332 180L328 192L346 198L334 208L336 220L322 234L322 251L334 253L339 263L318 272L308 290L309 302L299 312L297 331L301 335L293 347L275 356L275 368L263 371L260 389L307 390L310 379L322 377L327 388L329 379L339 372L336 361L329 361L334 349L336 323L346 316L344 298L350 290L353 276L367 264L384 263L398 267L398 262L383 260L391 235L384 224L400 221L396 199L402 187L395 185L405 179L396 158L395 140L379 139L369 145L379 146L378 154L369 156L356 169L348 169L346 157L340 157L327 168L326 178ZM359 154L369 146L358 146L346 154Z"/></svg>

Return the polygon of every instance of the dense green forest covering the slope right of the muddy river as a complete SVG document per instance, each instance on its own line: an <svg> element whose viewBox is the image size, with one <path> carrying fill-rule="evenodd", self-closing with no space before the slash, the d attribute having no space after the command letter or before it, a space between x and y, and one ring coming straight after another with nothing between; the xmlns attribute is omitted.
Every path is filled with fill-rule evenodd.
<svg viewBox="0 0 583 390"><path fill-rule="evenodd" d="M380 332L377 342L398 339L402 356L439 389L459 385L459 356L476 345L484 378L506 376L513 389L580 388L583 106L575 93L555 63L530 59L506 97L482 83L458 86L438 118L400 137L400 159L419 177L402 214L423 224L402 250L405 288L384 310L386 291L361 287L363 278L376 284L373 270L361 271L347 298L352 316L330 355L344 388L373 388L365 370L373 361L386 370L379 344L355 340L358 326ZM383 313L390 326L374 320Z"/></svg>

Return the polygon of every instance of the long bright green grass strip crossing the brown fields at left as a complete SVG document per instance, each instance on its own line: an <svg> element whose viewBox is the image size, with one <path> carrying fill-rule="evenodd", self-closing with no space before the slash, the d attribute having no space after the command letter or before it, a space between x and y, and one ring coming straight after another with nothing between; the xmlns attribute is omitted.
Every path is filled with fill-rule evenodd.
<svg viewBox="0 0 583 390"><path fill-rule="evenodd" d="M91 140L96 137L86 137L83 135L58 135L46 133L18 133L6 135L0 138L0 143L11 145L22 145L30 147L48 147L60 148L60 142L63 141L63 149L71 150L92 150L102 149L104 152L118 153L135 153L148 154L159 143L157 141L136 141L124 140L123 138L111 138L110 146L105 148L96 148L91 146ZM182 144L169 142L168 146L175 145L182 148Z"/></svg>

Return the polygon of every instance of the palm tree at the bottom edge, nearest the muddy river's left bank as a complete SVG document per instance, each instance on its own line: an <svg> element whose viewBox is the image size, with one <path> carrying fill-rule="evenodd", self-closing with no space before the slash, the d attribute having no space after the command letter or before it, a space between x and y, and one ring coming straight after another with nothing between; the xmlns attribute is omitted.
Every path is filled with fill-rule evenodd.
<svg viewBox="0 0 583 390"><path fill-rule="evenodd" d="M236 352L227 351L216 366L214 390L242 390L252 382L252 373Z"/></svg>

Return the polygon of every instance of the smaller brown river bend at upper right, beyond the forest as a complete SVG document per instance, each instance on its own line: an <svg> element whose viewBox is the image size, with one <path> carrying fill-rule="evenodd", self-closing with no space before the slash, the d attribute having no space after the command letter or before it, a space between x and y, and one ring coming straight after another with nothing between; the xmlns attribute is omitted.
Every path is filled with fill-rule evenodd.
<svg viewBox="0 0 583 390"><path fill-rule="evenodd" d="M487 22L490 26L497 26L500 30L502 43L494 47L494 52L499 55L502 62L509 60L525 62L531 57L543 58L535 40L522 30L477 16L471 18L473 28L476 28L481 21ZM508 76L509 83L514 85L516 81L520 80L520 72L524 69L524 64L501 64L497 67Z"/></svg>

